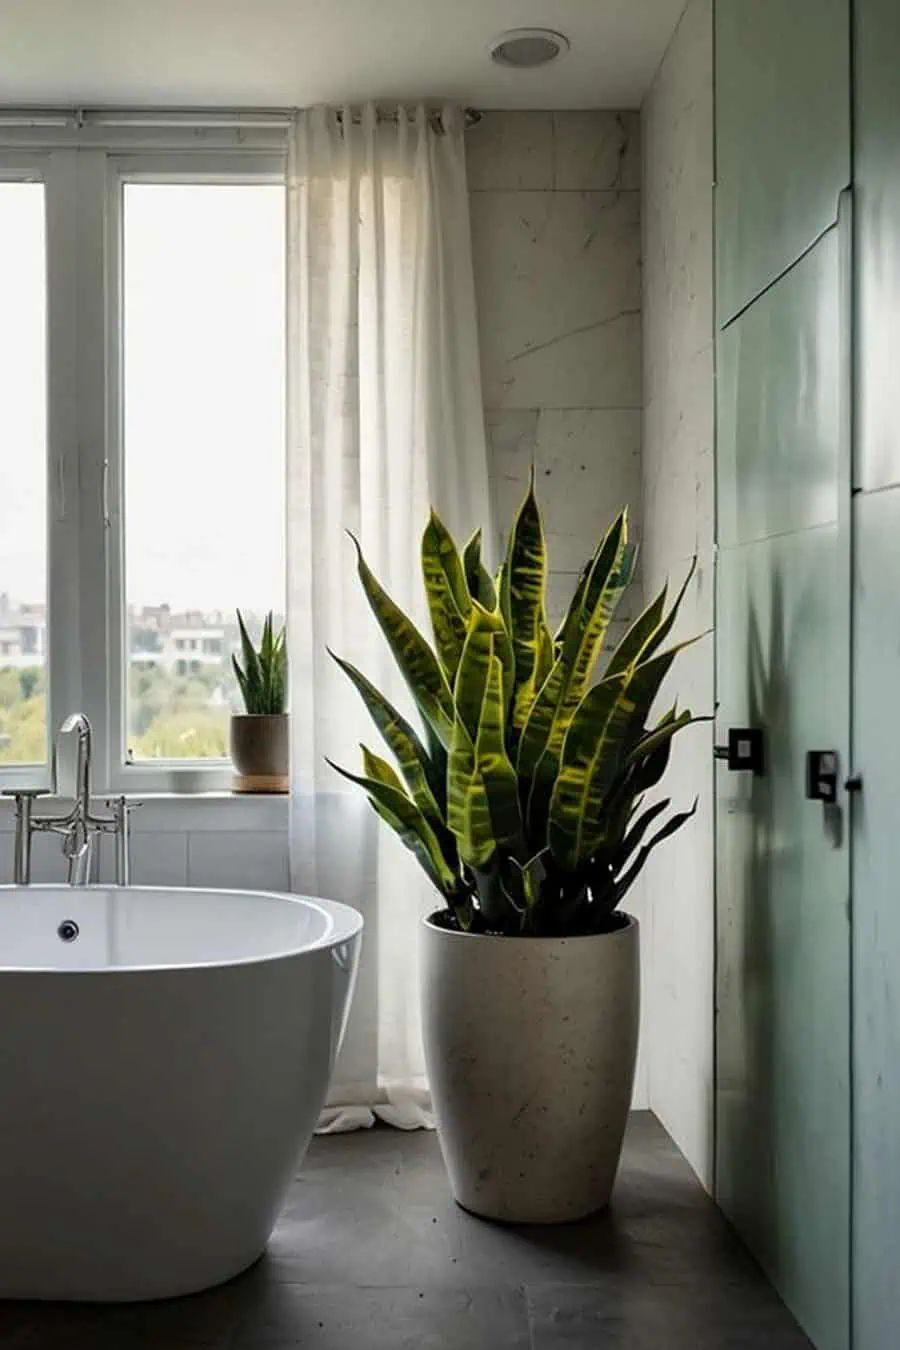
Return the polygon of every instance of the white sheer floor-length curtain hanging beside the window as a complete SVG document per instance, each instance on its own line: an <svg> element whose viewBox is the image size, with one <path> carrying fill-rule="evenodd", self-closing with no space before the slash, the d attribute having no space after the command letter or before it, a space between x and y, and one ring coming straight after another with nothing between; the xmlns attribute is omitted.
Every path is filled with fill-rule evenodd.
<svg viewBox="0 0 900 1350"><path fill-rule="evenodd" d="M289 157L287 629L291 884L355 905L363 961L322 1127L429 1125L418 921L436 896L362 792L382 752L327 647L409 716L360 595L352 531L382 585L426 628L418 547L433 505L491 535L463 115L420 107L300 112Z"/></svg>

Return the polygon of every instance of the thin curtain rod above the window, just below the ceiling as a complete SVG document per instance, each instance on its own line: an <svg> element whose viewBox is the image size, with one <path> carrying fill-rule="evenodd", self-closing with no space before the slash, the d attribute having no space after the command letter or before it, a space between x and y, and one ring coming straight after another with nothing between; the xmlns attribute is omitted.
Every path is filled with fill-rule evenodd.
<svg viewBox="0 0 900 1350"><path fill-rule="evenodd" d="M291 108L0 108L0 126L5 127L285 127ZM354 122L359 122L354 112ZM397 122L397 113L378 112L379 120ZM441 109L432 108L429 117L440 124ZM476 126L482 113L476 108L463 112L466 128ZM337 120L344 120L337 109Z"/></svg>

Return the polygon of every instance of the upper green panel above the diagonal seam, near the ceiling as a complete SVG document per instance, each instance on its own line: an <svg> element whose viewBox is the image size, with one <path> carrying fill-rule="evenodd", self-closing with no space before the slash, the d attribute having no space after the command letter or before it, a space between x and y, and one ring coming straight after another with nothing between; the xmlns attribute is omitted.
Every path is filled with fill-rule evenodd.
<svg viewBox="0 0 900 1350"><path fill-rule="evenodd" d="M837 219L850 184L849 0L716 0L719 324Z"/></svg>

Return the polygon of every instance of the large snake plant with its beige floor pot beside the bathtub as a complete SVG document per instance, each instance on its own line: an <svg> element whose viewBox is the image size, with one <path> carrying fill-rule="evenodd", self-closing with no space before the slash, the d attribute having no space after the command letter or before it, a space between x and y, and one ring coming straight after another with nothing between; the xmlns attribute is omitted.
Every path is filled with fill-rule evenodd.
<svg viewBox="0 0 900 1350"><path fill-rule="evenodd" d="M609 1200L631 1099L638 925L619 905L696 809L669 813L653 795L696 718L652 713L687 645L665 643L694 568L671 608L664 589L610 652L636 558L622 512L553 633L532 479L497 576L480 533L460 554L432 513L432 647L356 549L422 734L339 659L397 765L363 747L363 772L340 772L440 896L422 929L422 1027L451 1187L488 1218L576 1219Z"/></svg>

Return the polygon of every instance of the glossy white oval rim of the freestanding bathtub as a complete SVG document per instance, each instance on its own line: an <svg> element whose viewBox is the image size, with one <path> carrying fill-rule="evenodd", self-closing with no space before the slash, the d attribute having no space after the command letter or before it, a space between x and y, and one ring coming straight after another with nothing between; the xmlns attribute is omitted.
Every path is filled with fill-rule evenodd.
<svg viewBox="0 0 900 1350"><path fill-rule="evenodd" d="M243 967L259 967L271 965L277 961L289 961L300 956L308 956L314 952L333 952L337 948L345 946L348 942L354 942L362 936L364 919L359 910L355 910L351 905L345 905L343 900L332 900L325 896L318 895L296 895L289 891L251 891L244 887L208 887L208 886L113 886L111 883L96 883L90 886L66 887L61 882L38 882L31 886L12 886L8 883L0 884L0 900L4 895L23 895L31 891L38 891L43 894L58 892L59 896L65 896L66 892L72 890L74 895L80 894L97 894L103 892L105 895L115 895L117 892L123 894L138 894L138 895L186 895L190 896L192 892L198 895L223 895L223 896L246 896L248 900L266 899L266 900L279 900L290 905L305 905L320 914L327 921L325 933L309 942L304 942L302 946L281 946L273 952L256 953L254 956L220 959L209 961L167 961L165 964L159 963L134 963L128 965L96 965L96 967L59 967L59 965L4 965L3 954L0 953L0 976L3 975L54 975L54 976L124 976L124 975L138 975L138 973L169 973L169 972L189 972L189 971L225 971Z"/></svg>

